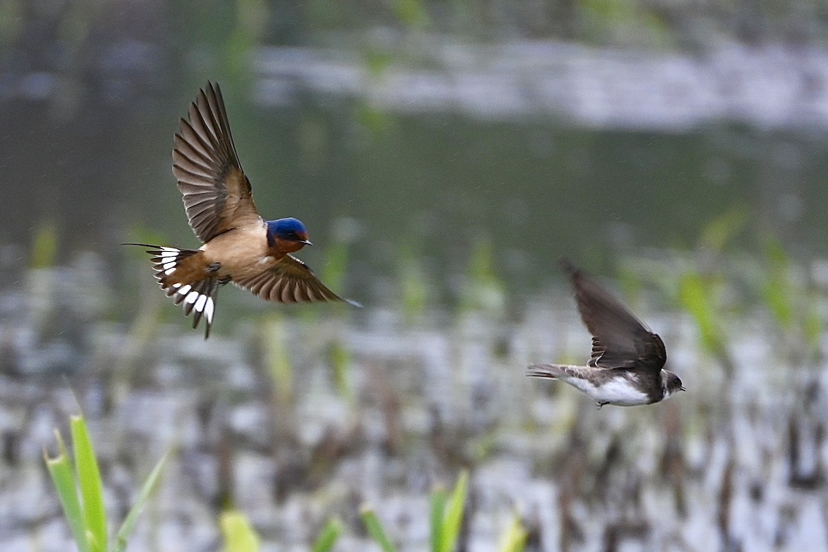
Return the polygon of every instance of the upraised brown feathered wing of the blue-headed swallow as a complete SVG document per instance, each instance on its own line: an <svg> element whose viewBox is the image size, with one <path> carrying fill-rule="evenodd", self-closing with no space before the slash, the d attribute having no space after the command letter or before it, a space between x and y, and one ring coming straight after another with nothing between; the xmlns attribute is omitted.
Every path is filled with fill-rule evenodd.
<svg viewBox="0 0 828 552"><path fill-rule="evenodd" d="M219 85L207 83L181 119L172 150L172 172L190 228L202 242L247 224L261 223L250 180L238 163Z"/></svg>

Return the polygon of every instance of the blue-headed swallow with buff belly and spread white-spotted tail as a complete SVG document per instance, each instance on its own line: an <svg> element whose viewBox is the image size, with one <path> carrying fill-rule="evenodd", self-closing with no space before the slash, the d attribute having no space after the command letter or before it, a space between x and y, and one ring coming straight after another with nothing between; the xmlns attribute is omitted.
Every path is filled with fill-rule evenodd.
<svg viewBox="0 0 828 552"><path fill-rule="evenodd" d="M264 220L253 204L250 180L238 161L224 99L218 84L207 83L181 119L172 150L172 172L190 221L200 239L198 249L146 243L156 278L193 328L205 319L205 339L213 324L219 288L233 282L263 300L279 303L352 300L339 297L292 252L308 240L296 218Z"/></svg>

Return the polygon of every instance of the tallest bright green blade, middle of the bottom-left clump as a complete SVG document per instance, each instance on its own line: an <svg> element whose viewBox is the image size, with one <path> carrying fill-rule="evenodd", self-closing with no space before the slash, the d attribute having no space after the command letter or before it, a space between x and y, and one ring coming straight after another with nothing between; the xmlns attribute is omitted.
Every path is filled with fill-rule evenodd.
<svg viewBox="0 0 828 552"><path fill-rule="evenodd" d="M86 529L91 535L92 550L106 550L108 544L106 510L103 507L103 482L89 430L82 415L70 417L72 444L75 449L75 470L83 498Z"/></svg>

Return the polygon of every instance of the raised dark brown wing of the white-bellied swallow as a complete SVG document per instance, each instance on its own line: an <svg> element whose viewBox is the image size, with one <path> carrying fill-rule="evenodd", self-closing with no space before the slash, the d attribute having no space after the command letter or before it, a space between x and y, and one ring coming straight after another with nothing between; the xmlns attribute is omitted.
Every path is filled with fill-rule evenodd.
<svg viewBox="0 0 828 552"><path fill-rule="evenodd" d="M575 287L580 317L594 336L590 366L660 371L667 362L662 338L575 266L568 262L563 266Z"/></svg>

